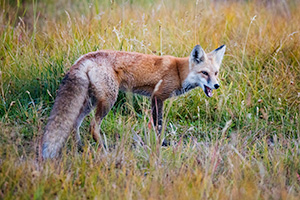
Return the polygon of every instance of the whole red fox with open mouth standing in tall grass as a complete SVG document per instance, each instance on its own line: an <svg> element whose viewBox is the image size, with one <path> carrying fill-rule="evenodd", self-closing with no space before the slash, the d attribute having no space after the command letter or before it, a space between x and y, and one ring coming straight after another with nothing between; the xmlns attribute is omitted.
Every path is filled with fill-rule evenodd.
<svg viewBox="0 0 300 200"><path fill-rule="evenodd" d="M63 78L41 140L43 159L56 158L70 132L81 143L79 127L92 110L90 132L100 142L100 126L119 91L150 97L152 122L160 134L163 104L200 87L207 97L220 87L219 69L226 46L205 53L196 45L188 57L98 50L81 56Z"/></svg>

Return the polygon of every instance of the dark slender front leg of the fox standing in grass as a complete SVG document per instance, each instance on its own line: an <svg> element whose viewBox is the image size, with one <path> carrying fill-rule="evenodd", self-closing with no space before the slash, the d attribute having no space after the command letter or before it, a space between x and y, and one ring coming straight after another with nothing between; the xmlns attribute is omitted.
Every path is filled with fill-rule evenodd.
<svg viewBox="0 0 300 200"><path fill-rule="evenodd" d="M154 96L151 102L152 118L153 124L156 127L158 134L161 134L162 131L162 119L163 119L163 105L164 102Z"/></svg>

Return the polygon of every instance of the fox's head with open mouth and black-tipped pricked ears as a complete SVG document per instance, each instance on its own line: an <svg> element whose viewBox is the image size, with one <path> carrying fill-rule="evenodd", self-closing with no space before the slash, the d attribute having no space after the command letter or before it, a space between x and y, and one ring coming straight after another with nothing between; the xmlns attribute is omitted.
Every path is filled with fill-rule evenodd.
<svg viewBox="0 0 300 200"><path fill-rule="evenodd" d="M206 54L200 45L195 46L189 57L189 73L183 87L189 90L199 86L206 96L212 97L212 91L220 87L218 74L225 49L222 45Z"/></svg>

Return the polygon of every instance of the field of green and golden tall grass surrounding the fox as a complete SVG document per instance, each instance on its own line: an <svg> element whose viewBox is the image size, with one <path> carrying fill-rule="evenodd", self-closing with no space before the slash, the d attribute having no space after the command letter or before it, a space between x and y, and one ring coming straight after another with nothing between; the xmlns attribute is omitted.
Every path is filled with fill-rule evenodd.
<svg viewBox="0 0 300 200"><path fill-rule="evenodd" d="M0 2L0 199L300 199L300 2ZM39 141L65 72L114 49L189 56L226 44L221 87L165 102L161 146L149 99L120 93L57 160ZM161 139L163 139L161 138Z"/></svg>

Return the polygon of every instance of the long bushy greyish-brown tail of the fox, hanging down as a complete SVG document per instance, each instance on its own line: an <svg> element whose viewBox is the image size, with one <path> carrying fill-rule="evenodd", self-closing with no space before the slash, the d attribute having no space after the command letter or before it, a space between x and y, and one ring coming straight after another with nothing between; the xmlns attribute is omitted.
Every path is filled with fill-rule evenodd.
<svg viewBox="0 0 300 200"><path fill-rule="evenodd" d="M63 79L42 138L43 159L57 157L60 153L87 98L88 87L85 73L69 72Z"/></svg>

